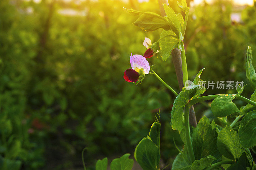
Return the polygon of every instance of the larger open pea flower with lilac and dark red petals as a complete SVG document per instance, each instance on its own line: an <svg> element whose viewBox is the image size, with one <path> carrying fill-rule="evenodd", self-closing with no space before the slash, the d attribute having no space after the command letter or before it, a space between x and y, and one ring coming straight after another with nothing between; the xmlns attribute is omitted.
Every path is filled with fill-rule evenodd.
<svg viewBox="0 0 256 170"><path fill-rule="evenodd" d="M132 55L130 56L130 63L132 69L127 69L124 71L124 80L128 82L134 82L137 84L142 82L145 74L149 73L149 63L145 57L142 55Z"/></svg>

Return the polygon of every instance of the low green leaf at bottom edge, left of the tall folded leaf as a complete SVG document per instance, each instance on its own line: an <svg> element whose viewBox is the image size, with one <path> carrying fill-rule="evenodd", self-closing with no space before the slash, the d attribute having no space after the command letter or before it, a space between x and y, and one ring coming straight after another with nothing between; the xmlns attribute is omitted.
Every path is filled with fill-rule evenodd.
<svg viewBox="0 0 256 170"><path fill-rule="evenodd" d="M110 164L111 170L131 170L133 166L133 159L129 159L130 153L126 153L120 158L112 160Z"/></svg>

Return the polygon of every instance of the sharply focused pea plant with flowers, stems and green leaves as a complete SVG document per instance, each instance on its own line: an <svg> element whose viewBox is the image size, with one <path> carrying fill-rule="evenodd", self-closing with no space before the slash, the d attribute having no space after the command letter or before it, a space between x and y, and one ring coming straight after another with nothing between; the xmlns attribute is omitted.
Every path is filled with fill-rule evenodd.
<svg viewBox="0 0 256 170"><path fill-rule="evenodd" d="M250 148L256 145L256 73L252 66L252 50L248 47L246 54L246 77L249 79L251 87L255 90L250 99L240 94L245 86L238 86L237 94L217 94L200 96L206 91L203 80L200 78L203 70L200 70L193 82L188 84L188 71L184 49L183 38L188 21L189 7L186 1L177 3L179 8L185 13L176 14L167 4L163 6L166 16L162 17L152 12L141 12L132 9L125 9L138 19L134 22L142 30L154 31L162 29L160 39L153 44L146 38L143 45L147 48L145 54L130 56L131 68L124 71L124 80L127 82L141 84L147 74L155 75L174 95L171 112L172 129L178 130L182 141L183 150L179 150L172 163L172 169L255 169ZM162 60L167 60L174 48L181 51L183 85L179 92L175 92L156 72L150 71L150 64L147 58L159 56ZM249 86L246 86L249 87ZM189 124L189 108L196 103L205 100L213 100L211 109L224 126L217 125L214 120L203 116L196 127ZM233 100L241 100L246 106L238 109ZM233 117L232 123L227 122L227 116ZM160 170L160 112L156 117L149 131L149 135L143 138L135 148L134 157L144 170ZM224 127L224 128L223 128ZM253 150L252 150L253 151ZM130 170L133 166L133 159L129 159L130 154L125 154L121 158L114 159L111 170ZM96 170L106 170L108 160L104 158L96 163Z"/></svg>

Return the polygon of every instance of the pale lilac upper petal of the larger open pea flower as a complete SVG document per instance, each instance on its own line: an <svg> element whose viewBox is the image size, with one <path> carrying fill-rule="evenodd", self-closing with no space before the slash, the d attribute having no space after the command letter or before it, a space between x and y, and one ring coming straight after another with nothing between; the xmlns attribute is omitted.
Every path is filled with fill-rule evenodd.
<svg viewBox="0 0 256 170"><path fill-rule="evenodd" d="M142 55L131 55L130 62L133 70L139 72L139 70L143 68L144 75L149 73L149 63L147 59Z"/></svg>

